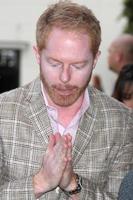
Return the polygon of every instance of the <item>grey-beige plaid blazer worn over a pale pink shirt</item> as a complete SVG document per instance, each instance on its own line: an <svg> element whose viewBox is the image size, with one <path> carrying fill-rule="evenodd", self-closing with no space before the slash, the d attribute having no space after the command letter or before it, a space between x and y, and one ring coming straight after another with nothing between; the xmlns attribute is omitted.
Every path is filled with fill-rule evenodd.
<svg viewBox="0 0 133 200"><path fill-rule="evenodd" d="M117 199L124 175L133 169L133 112L88 88L90 107L80 120L73 168L83 178L80 200ZM41 167L52 134L40 80L0 95L0 199L34 200L32 176ZM41 200L66 200L59 190Z"/></svg>

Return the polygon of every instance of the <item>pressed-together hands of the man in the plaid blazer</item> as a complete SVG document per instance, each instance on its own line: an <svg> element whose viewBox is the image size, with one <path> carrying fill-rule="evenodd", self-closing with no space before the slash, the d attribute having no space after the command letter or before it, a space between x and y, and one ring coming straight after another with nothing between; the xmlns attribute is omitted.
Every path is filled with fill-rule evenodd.
<svg viewBox="0 0 133 200"><path fill-rule="evenodd" d="M72 137L51 135L40 171L33 177L36 198L56 187L70 191L76 188L72 167Z"/></svg>

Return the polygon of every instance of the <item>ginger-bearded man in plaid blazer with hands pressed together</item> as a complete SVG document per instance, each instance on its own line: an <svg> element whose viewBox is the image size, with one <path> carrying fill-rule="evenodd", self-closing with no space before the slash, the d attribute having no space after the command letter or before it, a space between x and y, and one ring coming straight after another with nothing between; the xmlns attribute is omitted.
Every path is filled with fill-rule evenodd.
<svg viewBox="0 0 133 200"><path fill-rule="evenodd" d="M133 113L88 86L99 21L61 1L36 38L40 78L0 96L0 199L117 199L133 165Z"/></svg>

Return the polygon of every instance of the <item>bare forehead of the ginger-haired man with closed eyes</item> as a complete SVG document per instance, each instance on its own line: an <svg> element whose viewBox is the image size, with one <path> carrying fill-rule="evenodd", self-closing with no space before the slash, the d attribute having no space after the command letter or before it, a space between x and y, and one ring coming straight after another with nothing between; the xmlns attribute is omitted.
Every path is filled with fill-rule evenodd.
<svg viewBox="0 0 133 200"><path fill-rule="evenodd" d="M91 53L91 40L85 33L53 28L46 43L46 51L60 56L82 57Z"/></svg>

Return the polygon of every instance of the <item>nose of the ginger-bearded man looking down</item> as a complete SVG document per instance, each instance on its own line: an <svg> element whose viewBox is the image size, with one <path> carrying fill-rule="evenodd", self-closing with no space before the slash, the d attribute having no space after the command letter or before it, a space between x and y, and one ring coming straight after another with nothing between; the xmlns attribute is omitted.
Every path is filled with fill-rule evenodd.
<svg viewBox="0 0 133 200"><path fill-rule="evenodd" d="M69 66L63 66L60 72L60 80L63 83L68 83L71 79L71 69Z"/></svg>

